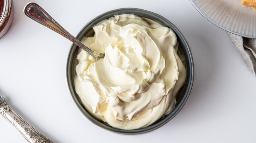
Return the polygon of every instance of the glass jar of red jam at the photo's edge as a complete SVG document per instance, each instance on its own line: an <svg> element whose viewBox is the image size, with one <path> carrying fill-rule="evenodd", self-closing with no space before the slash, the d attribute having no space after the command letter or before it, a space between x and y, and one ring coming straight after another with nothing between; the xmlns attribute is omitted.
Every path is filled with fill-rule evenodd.
<svg viewBox="0 0 256 143"><path fill-rule="evenodd" d="M13 15L14 6L12 0L0 0L0 38L10 29Z"/></svg>

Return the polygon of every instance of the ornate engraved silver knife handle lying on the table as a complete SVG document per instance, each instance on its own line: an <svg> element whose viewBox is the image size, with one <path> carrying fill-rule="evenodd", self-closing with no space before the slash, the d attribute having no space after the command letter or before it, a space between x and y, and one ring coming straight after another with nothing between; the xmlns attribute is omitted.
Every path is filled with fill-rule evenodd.
<svg viewBox="0 0 256 143"><path fill-rule="evenodd" d="M0 114L4 116L30 143L53 143L22 119L0 95Z"/></svg>

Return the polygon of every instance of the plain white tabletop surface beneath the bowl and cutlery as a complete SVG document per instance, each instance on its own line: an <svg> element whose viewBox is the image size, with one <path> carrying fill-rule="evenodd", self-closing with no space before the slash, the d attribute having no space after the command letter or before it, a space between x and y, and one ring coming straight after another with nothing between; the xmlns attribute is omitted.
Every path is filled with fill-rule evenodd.
<svg viewBox="0 0 256 143"><path fill-rule="evenodd" d="M189 0L34 0L71 34L117 8L142 8L170 20L186 38L195 78L182 111L143 135L119 135L87 120L65 83L71 42L23 14L31 1L14 0L10 31L0 39L0 93L19 115L54 143L216 143L256 141L256 78L226 32L207 21ZM0 117L1 143L26 143Z"/></svg>

